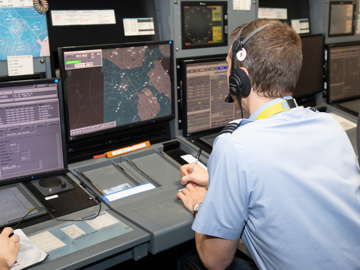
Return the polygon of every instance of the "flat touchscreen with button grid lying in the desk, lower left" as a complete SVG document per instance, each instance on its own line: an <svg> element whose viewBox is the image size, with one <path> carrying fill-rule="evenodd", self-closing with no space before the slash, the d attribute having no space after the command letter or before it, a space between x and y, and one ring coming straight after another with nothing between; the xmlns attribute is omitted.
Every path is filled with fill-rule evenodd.
<svg viewBox="0 0 360 270"><path fill-rule="evenodd" d="M0 226L14 223L25 216L35 206L18 189L17 186L6 186L0 189ZM32 211L27 217L45 212L42 209Z"/></svg>

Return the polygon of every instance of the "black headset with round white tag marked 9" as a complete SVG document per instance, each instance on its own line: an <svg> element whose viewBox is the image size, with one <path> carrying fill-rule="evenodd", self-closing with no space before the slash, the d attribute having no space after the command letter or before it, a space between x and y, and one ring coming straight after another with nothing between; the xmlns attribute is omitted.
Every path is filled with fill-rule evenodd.
<svg viewBox="0 0 360 270"><path fill-rule="evenodd" d="M243 41L242 36L240 36L243 29L248 26L246 24L238 33L237 39L234 40L233 46L231 50L233 51L233 58L231 59L231 73L229 76L229 95L225 98L225 102L234 102L233 98L231 98L231 95L236 96L236 98L239 100L239 105L241 109L241 118L243 118L243 108L241 106L241 97L242 96L248 96L251 91L251 83L249 76L247 76L246 72L243 71L241 68L234 68L235 64L235 55L237 58L242 61L246 58L246 50L243 48L245 43L257 32L261 31L262 29L269 26L269 24L265 24L254 31L252 31Z"/></svg>

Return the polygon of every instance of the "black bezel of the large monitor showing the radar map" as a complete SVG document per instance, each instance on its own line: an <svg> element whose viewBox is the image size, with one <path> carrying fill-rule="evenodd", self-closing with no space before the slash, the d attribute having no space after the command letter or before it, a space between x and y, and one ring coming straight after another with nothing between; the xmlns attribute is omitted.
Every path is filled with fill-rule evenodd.
<svg viewBox="0 0 360 270"><path fill-rule="evenodd" d="M174 88L174 42L171 40L167 41L147 41L147 42L129 42L129 43L115 43L115 44L104 44L104 45L89 45L89 46L73 46L73 47L60 47L58 48L59 55L59 67L60 67L60 77L63 80L66 80L66 71L64 66L64 52L67 51L81 51L81 50L98 50L98 49L114 49L114 48L129 48L129 47L141 47L141 46L156 46L156 45L170 45L170 80L171 80L171 114L168 116L163 116L159 118L154 118L150 120L129 123L123 126L116 126L110 129L104 129L100 131L93 131L81 135L71 136L70 135L70 123L69 123L69 110L67 103L67 92L65 89L65 84L63 85L63 95L64 95L64 111L65 111L65 121L66 121L66 137L67 141L79 141L84 139L91 139L99 135L111 134L117 131L129 130L133 127L148 126L154 123L170 121L175 118L175 88ZM65 75L65 76L64 76Z"/></svg>

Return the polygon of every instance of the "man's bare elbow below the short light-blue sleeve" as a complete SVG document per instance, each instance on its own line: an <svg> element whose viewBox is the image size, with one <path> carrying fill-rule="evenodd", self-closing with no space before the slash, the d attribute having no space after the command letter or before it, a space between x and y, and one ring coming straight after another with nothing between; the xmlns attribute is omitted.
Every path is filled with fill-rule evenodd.
<svg viewBox="0 0 360 270"><path fill-rule="evenodd" d="M195 243L199 257L209 270L223 270L233 261L238 240L227 240L195 231Z"/></svg>

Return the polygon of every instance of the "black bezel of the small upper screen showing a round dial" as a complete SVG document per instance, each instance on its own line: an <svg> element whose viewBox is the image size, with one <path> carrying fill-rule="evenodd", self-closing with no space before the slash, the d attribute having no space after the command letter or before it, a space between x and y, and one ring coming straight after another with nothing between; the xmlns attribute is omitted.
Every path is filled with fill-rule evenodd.
<svg viewBox="0 0 360 270"><path fill-rule="evenodd" d="M184 24L184 6L202 6L207 5L204 2L199 1L181 1L180 9L181 9L181 49L195 49L195 48L211 48L211 47L220 47L220 46L228 46L228 2L226 1L211 1L212 6L222 6L222 40L223 42L215 42L215 43L205 43L205 44L193 44L193 45L185 45L185 24ZM226 19L225 19L226 18Z"/></svg>

